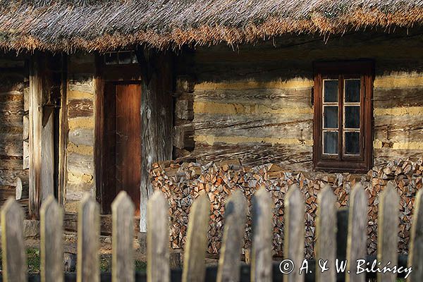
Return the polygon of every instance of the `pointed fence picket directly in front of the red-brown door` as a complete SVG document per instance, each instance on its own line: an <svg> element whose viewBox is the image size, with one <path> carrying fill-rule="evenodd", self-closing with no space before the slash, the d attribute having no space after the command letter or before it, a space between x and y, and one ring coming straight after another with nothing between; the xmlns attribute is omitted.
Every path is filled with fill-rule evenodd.
<svg viewBox="0 0 423 282"><path fill-rule="evenodd" d="M111 203L112 248L111 281L135 281L133 260L134 204L125 191Z"/></svg>

